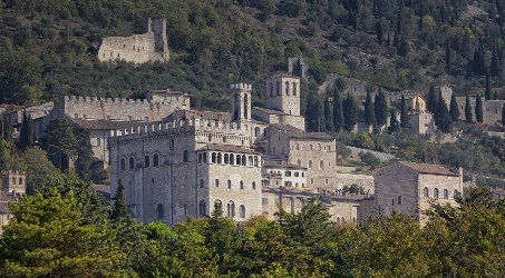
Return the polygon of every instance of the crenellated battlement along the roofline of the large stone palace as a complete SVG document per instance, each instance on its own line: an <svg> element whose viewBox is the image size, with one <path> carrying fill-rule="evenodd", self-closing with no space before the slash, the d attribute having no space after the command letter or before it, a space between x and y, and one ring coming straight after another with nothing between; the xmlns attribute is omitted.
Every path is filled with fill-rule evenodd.
<svg viewBox="0 0 505 278"><path fill-rule="evenodd" d="M163 123L135 127L129 129L113 130L110 131L111 138L118 140L135 139L140 137L147 137L152 135L162 133L179 133L184 131L208 131L208 132L222 132L222 133L236 133L246 131L246 129L239 127L236 122L216 121L216 120L204 120L204 119L191 119L191 120L174 120ZM249 136L244 132L243 136Z"/></svg>

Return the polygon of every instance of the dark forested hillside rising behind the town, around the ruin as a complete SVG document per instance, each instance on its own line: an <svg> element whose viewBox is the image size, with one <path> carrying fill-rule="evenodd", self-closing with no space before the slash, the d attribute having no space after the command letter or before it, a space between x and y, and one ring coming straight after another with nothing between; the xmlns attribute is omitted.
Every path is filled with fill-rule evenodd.
<svg viewBox="0 0 505 278"><path fill-rule="evenodd" d="M3 0L0 97L40 102L169 87L190 92L196 107L223 109L225 86L242 80L254 82L261 106L264 78L285 70L285 58L303 57L320 82L337 72L392 89L449 83L469 93L488 71L503 98L505 2L469 3ZM167 20L169 62L98 62L101 38L142 33L147 17Z"/></svg>

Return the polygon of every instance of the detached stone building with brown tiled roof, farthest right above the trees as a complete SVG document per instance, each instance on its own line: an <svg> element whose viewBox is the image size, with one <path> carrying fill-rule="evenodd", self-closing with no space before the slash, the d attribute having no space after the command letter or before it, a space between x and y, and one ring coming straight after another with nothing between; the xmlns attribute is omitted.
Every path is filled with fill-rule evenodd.
<svg viewBox="0 0 505 278"><path fill-rule="evenodd" d="M430 202L457 206L454 197L463 192L463 170L455 172L438 165L399 161L376 173L375 190L379 214L390 216L396 209L424 224L421 211Z"/></svg>

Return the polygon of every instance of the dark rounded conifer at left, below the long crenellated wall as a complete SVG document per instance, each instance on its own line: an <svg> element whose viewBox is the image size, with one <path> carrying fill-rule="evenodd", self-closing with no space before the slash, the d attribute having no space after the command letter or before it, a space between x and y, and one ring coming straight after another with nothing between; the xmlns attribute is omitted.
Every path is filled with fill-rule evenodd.
<svg viewBox="0 0 505 278"><path fill-rule="evenodd" d="M66 119L56 117L49 121L45 132L41 146L47 151L49 160L59 169L67 169L67 159L77 155L78 147L70 125Z"/></svg>

